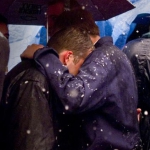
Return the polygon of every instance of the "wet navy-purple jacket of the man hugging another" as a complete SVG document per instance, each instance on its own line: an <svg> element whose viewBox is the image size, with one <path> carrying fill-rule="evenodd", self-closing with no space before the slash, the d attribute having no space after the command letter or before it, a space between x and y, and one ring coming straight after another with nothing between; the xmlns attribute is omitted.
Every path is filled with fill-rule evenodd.
<svg viewBox="0 0 150 150"><path fill-rule="evenodd" d="M38 50L34 60L66 111L78 115L78 126L83 132L75 132L85 140L82 149L136 149L140 137L132 67L126 55L113 45L111 37L101 38L97 45L77 76L69 74L51 48Z"/></svg>

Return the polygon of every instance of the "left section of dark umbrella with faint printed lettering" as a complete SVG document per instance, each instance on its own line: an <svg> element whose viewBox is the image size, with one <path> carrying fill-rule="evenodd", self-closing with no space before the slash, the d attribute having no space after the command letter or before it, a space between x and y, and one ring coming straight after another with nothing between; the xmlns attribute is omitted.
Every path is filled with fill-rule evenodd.
<svg viewBox="0 0 150 150"><path fill-rule="evenodd" d="M0 13L9 24L45 25L48 0L0 0Z"/></svg>

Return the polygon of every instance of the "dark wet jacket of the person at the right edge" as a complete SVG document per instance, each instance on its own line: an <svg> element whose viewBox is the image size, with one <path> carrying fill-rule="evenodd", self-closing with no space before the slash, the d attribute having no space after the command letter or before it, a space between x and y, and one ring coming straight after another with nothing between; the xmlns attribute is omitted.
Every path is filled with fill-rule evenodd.
<svg viewBox="0 0 150 150"><path fill-rule="evenodd" d="M150 39L139 38L126 44L123 52L130 59L138 85L138 107L142 109L140 120L144 150L150 149Z"/></svg>

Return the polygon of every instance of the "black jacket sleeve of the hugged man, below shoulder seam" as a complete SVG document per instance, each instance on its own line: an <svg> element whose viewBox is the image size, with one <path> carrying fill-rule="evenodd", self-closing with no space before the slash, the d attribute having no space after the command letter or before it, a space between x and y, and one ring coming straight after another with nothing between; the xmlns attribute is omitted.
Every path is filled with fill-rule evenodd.
<svg viewBox="0 0 150 150"><path fill-rule="evenodd" d="M5 101L6 149L53 150L55 137L48 89L32 80L12 88L11 101Z"/></svg>

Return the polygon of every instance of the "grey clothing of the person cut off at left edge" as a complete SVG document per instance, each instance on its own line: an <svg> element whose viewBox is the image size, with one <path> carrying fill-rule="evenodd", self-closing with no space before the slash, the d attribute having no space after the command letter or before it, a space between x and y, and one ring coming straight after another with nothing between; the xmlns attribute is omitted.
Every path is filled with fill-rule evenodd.
<svg viewBox="0 0 150 150"><path fill-rule="evenodd" d="M3 82L9 58L8 40L0 32L0 100L3 91Z"/></svg>

